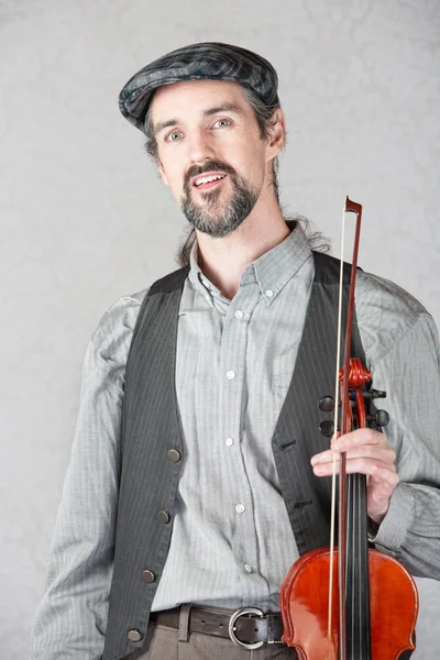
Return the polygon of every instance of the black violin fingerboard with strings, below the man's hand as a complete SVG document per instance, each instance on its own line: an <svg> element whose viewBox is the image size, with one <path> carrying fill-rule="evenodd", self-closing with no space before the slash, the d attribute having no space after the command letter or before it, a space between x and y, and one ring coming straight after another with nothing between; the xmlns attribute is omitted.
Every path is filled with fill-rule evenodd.
<svg viewBox="0 0 440 660"><path fill-rule="evenodd" d="M346 660L371 660L366 476L346 476Z"/></svg>

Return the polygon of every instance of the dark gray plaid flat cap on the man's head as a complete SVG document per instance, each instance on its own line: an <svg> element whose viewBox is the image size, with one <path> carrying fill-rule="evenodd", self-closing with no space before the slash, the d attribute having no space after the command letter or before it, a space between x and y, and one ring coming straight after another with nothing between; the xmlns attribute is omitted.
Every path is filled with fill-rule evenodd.
<svg viewBox="0 0 440 660"><path fill-rule="evenodd" d="M123 86L119 108L125 119L144 131L145 114L155 89L183 80L242 82L268 106L279 106L278 76L267 59L239 46L207 42L173 51L142 68Z"/></svg>

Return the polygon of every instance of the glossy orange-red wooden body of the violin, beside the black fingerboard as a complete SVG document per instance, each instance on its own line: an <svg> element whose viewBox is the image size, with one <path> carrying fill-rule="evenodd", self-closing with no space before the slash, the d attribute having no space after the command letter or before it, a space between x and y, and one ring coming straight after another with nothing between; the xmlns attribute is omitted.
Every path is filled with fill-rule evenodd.
<svg viewBox="0 0 440 660"><path fill-rule="evenodd" d="M334 550L333 581L338 583L338 549ZM348 641L348 660L397 660L414 650L418 594L414 579L395 559L369 550L370 650L360 651L356 640ZM295 647L300 660L339 659L339 602L332 597L331 634L328 635L330 550L311 550L295 562L280 592L283 642ZM362 640L361 640L362 641ZM365 648L362 646L362 648ZM365 653L365 654L364 654Z"/></svg>

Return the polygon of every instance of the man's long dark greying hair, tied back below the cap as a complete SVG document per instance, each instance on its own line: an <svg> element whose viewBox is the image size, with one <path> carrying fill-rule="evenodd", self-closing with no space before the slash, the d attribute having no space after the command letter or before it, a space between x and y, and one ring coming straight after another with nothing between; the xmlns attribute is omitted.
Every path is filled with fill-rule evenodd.
<svg viewBox="0 0 440 660"><path fill-rule="evenodd" d="M244 82L240 82L240 86L242 88L243 96L245 97L246 101L249 102L249 105L251 106L251 108L254 112L256 122L260 128L260 136L262 140L265 140L270 136L271 127L273 127L276 122L275 110L280 108L280 105L278 103L275 106L270 106L268 103L263 101L261 96L254 89L252 89L252 87L250 87L249 85L246 85ZM157 147L156 136L154 134L153 118L152 118L152 103L151 102L150 102L150 106L148 106L148 109L147 109L146 116L145 116L144 133L145 133L145 138L146 138L145 144L144 144L145 151L146 151L147 155L150 156L150 158L156 165L158 165L160 164L158 147ZM274 188L275 199L278 202L279 208L282 209L282 205L279 202L278 167L279 167L278 156L275 156L275 158L272 161L271 185ZM329 240L327 239L327 237L324 237L321 232L314 232L314 230L310 228L309 221L306 218L304 218L301 216L289 216L289 217L285 216L285 220L292 229L296 226L297 222L300 222L302 228L306 231L306 234L310 242L311 248L314 248L315 250L319 250L321 252L329 252L330 243L329 243ZM191 252L191 249L193 249L193 245L195 242L196 242L196 230L193 227L190 227L187 230L187 232L185 233L185 235L183 237L180 245L177 250L176 261L180 266L186 266L187 264L189 264L189 255L190 255L190 252Z"/></svg>

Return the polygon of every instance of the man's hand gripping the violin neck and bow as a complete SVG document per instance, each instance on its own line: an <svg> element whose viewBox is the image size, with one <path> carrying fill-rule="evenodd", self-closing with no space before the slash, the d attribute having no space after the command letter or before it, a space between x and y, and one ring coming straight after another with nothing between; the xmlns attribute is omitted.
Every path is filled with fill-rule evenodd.
<svg viewBox="0 0 440 660"><path fill-rule="evenodd" d="M332 474L333 452L346 452L346 474L366 474L367 514L376 525L381 525L388 510L393 491L399 482L394 464L396 454L388 447L386 436L374 429L358 429L339 438L333 437L331 449L310 460L317 476Z"/></svg>

